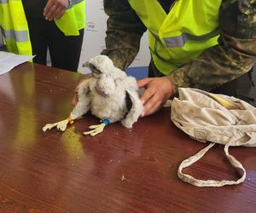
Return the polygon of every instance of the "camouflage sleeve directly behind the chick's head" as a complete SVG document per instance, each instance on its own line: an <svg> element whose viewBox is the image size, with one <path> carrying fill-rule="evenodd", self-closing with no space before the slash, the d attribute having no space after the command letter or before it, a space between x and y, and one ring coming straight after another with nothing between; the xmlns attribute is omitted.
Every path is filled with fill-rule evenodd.
<svg viewBox="0 0 256 213"><path fill-rule="evenodd" d="M104 0L103 3L108 14L108 29L102 55L108 55L115 66L125 70L135 59L147 29L127 0Z"/></svg>

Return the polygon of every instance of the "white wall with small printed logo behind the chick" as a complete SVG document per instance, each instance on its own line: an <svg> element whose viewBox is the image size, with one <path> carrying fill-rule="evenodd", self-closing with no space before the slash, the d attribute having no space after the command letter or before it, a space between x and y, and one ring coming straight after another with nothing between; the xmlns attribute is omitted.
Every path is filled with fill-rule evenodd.
<svg viewBox="0 0 256 213"><path fill-rule="evenodd" d="M99 55L105 49L105 37L108 16L103 10L103 0L86 1L86 26L84 29L84 43L82 47L79 72L88 73L87 68L82 67L83 63L95 55ZM141 49L137 58L130 67L148 66L148 34L144 33L141 42Z"/></svg>

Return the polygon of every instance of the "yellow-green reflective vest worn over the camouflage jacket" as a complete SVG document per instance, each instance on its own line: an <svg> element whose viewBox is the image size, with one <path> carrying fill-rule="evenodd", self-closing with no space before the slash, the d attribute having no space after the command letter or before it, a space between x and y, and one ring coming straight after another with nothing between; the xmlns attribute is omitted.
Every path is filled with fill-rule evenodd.
<svg viewBox="0 0 256 213"><path fill-rule="evenodd" d="M148 28L150 53L160 72L168 75L218 43L221 2L178 0L166 14L157 0L129 0Z"/></svg>

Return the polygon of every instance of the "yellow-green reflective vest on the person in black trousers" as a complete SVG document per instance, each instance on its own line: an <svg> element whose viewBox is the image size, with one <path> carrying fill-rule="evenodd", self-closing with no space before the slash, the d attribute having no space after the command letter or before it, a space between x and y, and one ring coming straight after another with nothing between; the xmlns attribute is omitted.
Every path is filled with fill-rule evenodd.
<svg viewBox="0 0 256 213"><path fill-rule="evenodd" d="M66 36L78 36L85 26L85 1L73 0L61 19L55 20ZM0 0L0 27L9 52L32 55L26 15L21 0Z"/></svg>

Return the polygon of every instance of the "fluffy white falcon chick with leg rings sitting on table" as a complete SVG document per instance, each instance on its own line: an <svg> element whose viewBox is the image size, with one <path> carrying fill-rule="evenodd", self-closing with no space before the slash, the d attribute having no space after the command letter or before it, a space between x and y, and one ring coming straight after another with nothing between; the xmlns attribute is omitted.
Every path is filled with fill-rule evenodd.
<svg viewBox="0 0 256 213"><path fill-rule="evenodd" d="M84 63L84 66L90 68L91 76L79 83L78 102L69 118L55 124L46 124L43 130L56 127L64 131L68 123L73 124L73 120L88 111L100 118L102 124L90 126L91 130L84 132L84 135L96 135L106 125L116 121L131 128L143 112L136 79L115 67L106 55L97 55Z"/></svg>

